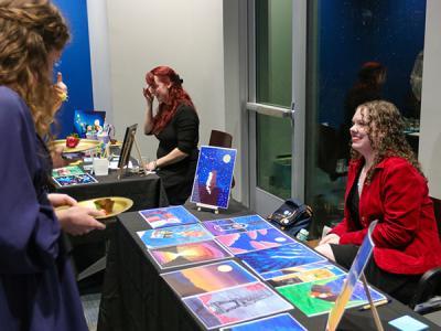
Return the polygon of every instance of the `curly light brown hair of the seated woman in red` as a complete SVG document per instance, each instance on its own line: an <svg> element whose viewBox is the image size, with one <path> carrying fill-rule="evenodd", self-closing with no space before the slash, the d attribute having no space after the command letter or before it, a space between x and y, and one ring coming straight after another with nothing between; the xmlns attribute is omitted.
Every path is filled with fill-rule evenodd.
<svg viewBox="0 0 441 331"><path fill-rule="evenodd" d="M405 136L405 122L398 108L385 100L374 100L358 106L362 117L367 122L367 136L376 152L374 164L367 173L369 182L373 169L387 157L399 157L412 164L422 175L421 167ZM352 149L353 159L361 154Z"/></svg>

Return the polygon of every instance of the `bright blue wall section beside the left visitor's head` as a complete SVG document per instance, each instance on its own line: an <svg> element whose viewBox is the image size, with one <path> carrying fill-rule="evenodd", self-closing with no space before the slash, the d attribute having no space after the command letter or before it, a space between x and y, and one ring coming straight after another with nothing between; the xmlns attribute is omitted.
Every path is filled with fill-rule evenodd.
<svg viewBox="0 0 441 331"><path fill-rule="evenodd" d="M63 81L68 87L68 100L60 109L56 118L58 126L55 127L55 134L64 138L73 132L75 109L94 109L87 4L86 0L53 2L66 18L72 34L60 66L54 68L54 74L58 71L63 73Z"/></svg>

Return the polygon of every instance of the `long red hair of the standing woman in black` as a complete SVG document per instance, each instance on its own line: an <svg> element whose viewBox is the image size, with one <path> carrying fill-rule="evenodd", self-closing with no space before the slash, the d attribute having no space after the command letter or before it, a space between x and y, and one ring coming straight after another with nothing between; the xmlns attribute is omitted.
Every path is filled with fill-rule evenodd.
<svg viewBox="0 0 441 331"><path fill-rule="evenodd" d="M195 111L196 109L190 95L182 88L183 81L171 67L162 65L148 72L146 74L146 82L148 85L155 85L154 76L164 84L172 83L169 88L170 105L161 103L158 106L157 115L153 117L152 132L158 135L171 121L180 105L184 104L191 106Z"/></svg>

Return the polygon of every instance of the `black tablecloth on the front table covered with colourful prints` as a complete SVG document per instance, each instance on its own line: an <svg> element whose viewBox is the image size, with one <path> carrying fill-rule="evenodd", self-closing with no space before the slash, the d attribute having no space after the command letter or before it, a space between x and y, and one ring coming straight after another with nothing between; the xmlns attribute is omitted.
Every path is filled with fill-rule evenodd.
<svg viewBox="0 0 441 331"><path fill-rule="evenodd" d="M218 215L197 212L190 204L186 207L201 221L250 213L236 202L230 203L230 209ZM204 330L159 276L159 267L138 237L137 231L150 228L147 222L138 213L126 213L118 218L115 241L110 244L107 261L98 330ZM388 321L404 314L422 320L430 328L437 328L396 300L379 307L378 312L385 330L396 330ZM308 318L299 309L293 309L290 313L308 330L325 329L327 314ZM376 327L370 311L353 308L345 311L338 330L376 330Z"/></svg>

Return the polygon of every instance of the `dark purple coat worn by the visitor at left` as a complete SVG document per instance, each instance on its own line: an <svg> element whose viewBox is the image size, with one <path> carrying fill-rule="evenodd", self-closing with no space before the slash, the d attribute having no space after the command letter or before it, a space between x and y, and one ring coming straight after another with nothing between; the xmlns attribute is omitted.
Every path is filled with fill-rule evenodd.
<svg viewBox="0 0 441 331"><path fill-rule="evenodd" d="M60 223L51 162L23 99L0 86L0 328L87 330Z"/></svg>

